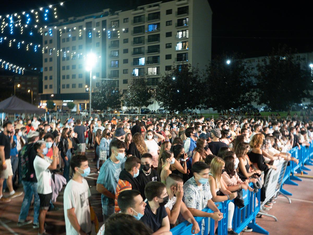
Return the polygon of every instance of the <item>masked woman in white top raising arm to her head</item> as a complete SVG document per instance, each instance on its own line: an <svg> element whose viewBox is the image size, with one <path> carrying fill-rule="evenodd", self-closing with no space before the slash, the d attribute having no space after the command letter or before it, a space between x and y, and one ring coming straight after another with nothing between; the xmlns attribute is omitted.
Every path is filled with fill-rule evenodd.
<svg viewBox="0 0 313 235"><path fill-rule="evenodd" d="M153 138L153 136L156 136ZM157 143L159 143L160 141L163 141L165 139L165 137L163 135L160 135L158 133L156 133L156 131L152 131L152 130L148 130L147 131L147 136L145 139L145 143L148 149L148 153L152 155L152 167L156 168L158 166L158 159L159 159L159 146L157 145Z"/></svg>

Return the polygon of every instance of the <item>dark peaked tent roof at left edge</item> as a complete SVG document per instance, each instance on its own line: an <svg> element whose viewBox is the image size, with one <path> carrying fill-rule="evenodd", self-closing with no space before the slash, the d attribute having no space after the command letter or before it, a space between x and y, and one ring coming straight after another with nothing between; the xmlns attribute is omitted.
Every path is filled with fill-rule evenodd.
<svg viewBox="0 0 313 235"><path fill-rule="evenodd" d="M0 112L8 113L45 113L46 110L38 108L28 102L19 99L16 96L11 96L8 99L0 102Z"/></svg>

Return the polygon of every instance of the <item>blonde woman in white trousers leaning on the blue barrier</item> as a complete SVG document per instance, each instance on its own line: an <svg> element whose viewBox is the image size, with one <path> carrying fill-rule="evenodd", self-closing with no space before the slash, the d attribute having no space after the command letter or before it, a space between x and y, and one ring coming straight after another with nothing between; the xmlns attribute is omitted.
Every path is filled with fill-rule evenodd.
<svg viewBox="0 0 313 235"><path fill-rule="evenodd" d="M226 188L226 184L222 178L222 170L224 170L225 162L219 157L213 158L211 162L211 171L209 173L209 184L210 190L212 193L212 201L227 201L233 200L237 196L237 192L231 192ZM221 191L226 196L218 196L217 192ZM228 204L228 234L238 234L233 231L232 222L233 222L233 213L235 210L235 205L233 202Z"/></svg>

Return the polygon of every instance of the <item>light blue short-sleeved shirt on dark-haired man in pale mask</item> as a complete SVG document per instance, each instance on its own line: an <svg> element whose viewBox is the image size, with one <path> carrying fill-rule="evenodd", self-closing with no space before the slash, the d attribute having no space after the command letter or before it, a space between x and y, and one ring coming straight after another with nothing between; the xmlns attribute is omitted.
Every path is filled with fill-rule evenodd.
<svg viewBox="0 0 313 235"><path fill-rule="evenodd" d="M120 160L118 164L113 163L110 158L107 159L100 168L97 184L102 184L108 191L115 194L119 176L122 169L124 169L124 165L125 159ZM101 194L101 203L102 206L108 205L109 198Z"/></svg>

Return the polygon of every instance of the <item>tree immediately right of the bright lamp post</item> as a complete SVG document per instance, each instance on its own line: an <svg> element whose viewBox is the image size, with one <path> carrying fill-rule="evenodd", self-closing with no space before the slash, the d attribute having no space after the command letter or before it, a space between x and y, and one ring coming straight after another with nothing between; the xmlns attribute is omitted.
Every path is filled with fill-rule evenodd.
<svg viewBox="0 0 313 235"><path fill-rule="evenodd" d="M104 80L92 94L92 107L98 110L108 110L109 108L121 108L120 91L116 80Z"/></svg>

